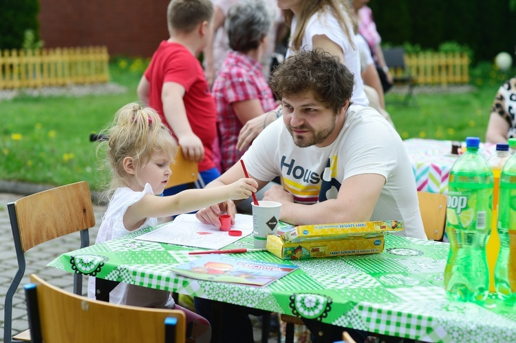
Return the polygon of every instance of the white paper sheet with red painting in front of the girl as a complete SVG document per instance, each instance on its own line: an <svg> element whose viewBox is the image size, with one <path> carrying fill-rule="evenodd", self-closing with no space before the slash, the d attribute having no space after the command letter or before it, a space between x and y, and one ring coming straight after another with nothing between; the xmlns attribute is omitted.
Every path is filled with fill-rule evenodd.
<svg viewBox="0 0 516 343"><path fill-rule="evenodd" d="M195 214L181 214L173 222L138 236L138 240L148 240L186 247L221 249L252 233L252 216L236 214L232 230L242 231L242 236L229 236L228 231L220 231L213 225L202 224Z"/></svg>

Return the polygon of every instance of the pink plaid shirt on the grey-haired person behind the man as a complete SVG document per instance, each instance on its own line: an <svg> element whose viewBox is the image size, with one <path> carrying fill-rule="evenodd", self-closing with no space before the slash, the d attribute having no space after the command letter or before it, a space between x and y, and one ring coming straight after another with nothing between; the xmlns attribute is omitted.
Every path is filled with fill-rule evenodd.
<svg viewBox="0 0 516 343"><path fill-rule="evenodd" d="M224 172L244 154L236 148L238 134L243 125L233 110L233 103L258 99L264 113L274 110L276 105L272 91L261 72L261 65L236 51L228 53L213 83L212 92L217 106L217 127Z"/></svg>

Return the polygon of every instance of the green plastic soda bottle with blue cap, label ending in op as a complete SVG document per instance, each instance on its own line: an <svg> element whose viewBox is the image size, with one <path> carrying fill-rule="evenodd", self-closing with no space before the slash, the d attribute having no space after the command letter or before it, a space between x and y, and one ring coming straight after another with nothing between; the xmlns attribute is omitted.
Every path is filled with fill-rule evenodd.
<svg viewBox="0 0 516 343"><path fill-rule="evenodd" d="M486 241L491 231L493 171L479 154L480 138L466 138L466 152L453 163L448 184L446 230L450 251L444 270L447 296L483 302L489 293Z"/></svg>

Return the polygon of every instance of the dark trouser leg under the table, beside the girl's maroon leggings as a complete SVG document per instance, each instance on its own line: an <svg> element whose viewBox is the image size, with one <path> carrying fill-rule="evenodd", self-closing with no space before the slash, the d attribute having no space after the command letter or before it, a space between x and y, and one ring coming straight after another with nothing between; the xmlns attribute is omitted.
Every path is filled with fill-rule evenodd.
<svg viewBox="0 0 516 343"><path fill-rule="evenodd" d="M215 305L213 300L193 298L195 311L206 318L220 335L222 342L254 343L252 335L252 324L249 315L263 315L267 313L263 310L250 309L248 307L226 304L220 302L216 305L221 306L222 320L213 318L212 309ZM212 337L211 342L219 342L219 337Z"/></svg>

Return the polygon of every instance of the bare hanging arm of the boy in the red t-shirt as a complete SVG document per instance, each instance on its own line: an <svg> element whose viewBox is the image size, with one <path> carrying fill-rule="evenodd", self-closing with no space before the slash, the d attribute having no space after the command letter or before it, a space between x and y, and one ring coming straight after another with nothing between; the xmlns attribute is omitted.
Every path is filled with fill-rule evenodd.
<svg viewBox="0 0 516 343"><path fill-rule="evenodd" d="M193 133L186 116L184 92L184 87L179 83L165 82L161 92L163 112L167 123L178 137L178 144L183 149L184 158L200 162L204 157L204 146L200 138Z"/></svg>

